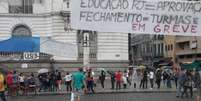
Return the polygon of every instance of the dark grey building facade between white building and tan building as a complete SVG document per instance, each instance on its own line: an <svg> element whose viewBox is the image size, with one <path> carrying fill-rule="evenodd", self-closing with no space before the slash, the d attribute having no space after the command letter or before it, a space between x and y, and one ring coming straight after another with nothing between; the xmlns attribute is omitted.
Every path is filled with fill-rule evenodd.
<svg viewBox="0 0 201 101"><path fill-rule="evenodd" d="M149 65L164 57L164 44L162 35L131 36L131 52L133 65Z"/></svg>

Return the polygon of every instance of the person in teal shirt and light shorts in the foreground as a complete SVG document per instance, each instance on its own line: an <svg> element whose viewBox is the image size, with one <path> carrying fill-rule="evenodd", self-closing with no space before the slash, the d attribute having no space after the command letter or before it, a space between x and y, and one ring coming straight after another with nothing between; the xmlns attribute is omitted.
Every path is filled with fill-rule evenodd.
<svg viewBox="0 0 201 101"><path fill-rule="evenodd" d="M85 87L85 76L83 69L79 68L78 72L72 74L73 92L71 93L71 101L80 101L80 96Z"/></svg>

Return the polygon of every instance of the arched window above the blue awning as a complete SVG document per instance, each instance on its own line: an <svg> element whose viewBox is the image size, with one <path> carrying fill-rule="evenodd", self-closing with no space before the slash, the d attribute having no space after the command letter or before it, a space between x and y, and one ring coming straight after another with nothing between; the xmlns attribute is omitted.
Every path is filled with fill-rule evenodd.
<svg viewBox="0 0 201 101"><path fill-rule="evenodd" d="M31 30L25 25L16 26L12 31L12 36L32 36Z"/></svg>

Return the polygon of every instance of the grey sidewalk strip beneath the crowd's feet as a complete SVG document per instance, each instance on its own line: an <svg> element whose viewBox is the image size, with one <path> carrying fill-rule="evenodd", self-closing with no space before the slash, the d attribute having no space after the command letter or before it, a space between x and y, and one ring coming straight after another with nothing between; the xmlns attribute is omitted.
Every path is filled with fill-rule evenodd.
<svg viewBox="0 0 201 101"><path fill-rule="evenodd" d="M166 88L164 84L161 82L161 88L157 89L156 85L154 85L155 88L150 89L150 84L148 82L148 88L147 89L140 89L139 85L137 85L137 88L133 88L133 86L129 86L126 89L120 89L120 90L112 90L110 89L110 80L105 81L105 88L101 87L100 83L96 83L95 93L96 94L114 94L114 93L175 93L176 87L175 84L172 83L172 88ZM62 91L60 92L37 92L37 95L65 95L70 94L70 92L65 91L65 85L62 86ZM30 95L34 95L33 93Z"/></svg>

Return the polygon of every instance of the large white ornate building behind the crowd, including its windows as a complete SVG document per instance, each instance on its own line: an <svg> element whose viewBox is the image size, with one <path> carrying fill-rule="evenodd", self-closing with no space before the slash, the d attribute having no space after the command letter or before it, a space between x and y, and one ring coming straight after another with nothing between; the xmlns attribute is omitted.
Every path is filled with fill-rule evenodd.
<svg viewBox="0 0 201 101"><path fill-rule="evenodd" d="M90 32L92 67L127 66L128 34L87 32ZM61 43L74 44L78 48L77 57L64 57L61 53L54 56L54 60L57 67L82 66L83 31L70 30L69 0L0 0L1 41L19 35L51 37ZM39 66L32 65L30 67Z"/></svg>

